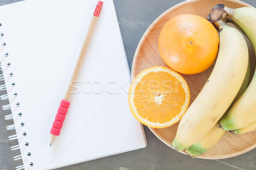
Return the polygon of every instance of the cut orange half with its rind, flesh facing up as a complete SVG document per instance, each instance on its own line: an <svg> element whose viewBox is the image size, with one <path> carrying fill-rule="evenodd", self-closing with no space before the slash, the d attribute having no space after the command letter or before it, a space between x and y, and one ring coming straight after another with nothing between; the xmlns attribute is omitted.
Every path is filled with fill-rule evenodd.
<svg viewBox="0 0 256 170"><path fill-rule="evenodd" d="M129 106L142 124L163 128L178 122L189 107L185 79L170 68L156 66L135 77L129 90Z"/></svg>

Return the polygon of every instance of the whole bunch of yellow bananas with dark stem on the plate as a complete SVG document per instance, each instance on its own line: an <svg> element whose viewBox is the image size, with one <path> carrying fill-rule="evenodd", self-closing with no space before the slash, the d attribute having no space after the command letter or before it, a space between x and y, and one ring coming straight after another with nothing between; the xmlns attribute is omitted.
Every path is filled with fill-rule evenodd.
<svg viewBox="0 0 256 170"><path fill-rule="evenodd" d="M230 27L225 24L226 20L230 23L233 23L244 34L246 34L246 36L252 42L254 50L256 51L256 26L255 26L256 8L244 7L244 8L231 9L231 8L225 7L222 4L219 4L212 9L211 13L209 14L208 20L220 29L220 48L219 48L219 54L218 54L216 65L218 63L218 59L220 57L223 57L221 55L224 54L223 52L224 42L225 40L226 42L228 40L228 39L225 39L224 37L227 38L228 34L230 34L230 36L231 34L233 34L233 36L237 36L240 38L236 40L235 39L231 40L229 37L230 42L232 42L234 46L233 48L225 46L226 50L227 48L235 50L235 47L237 47L238 50L242 52L239 55L243 56L244 60L248 58L248 51L244 47L246 45L242 45L244 44L244 39L241 38L241 36L239 35L239 33L237 33L237 31L234 31L234 28L231 31ZM230 31L225 31L225 30L228 30L228 28L230 29ZM240 47L238 44L240 44ZM230 52L227 52L226 54L227 54L226 56L227 58L230 55L236 56L235 54ZM236 56L235 58L239 59L238 56ZM215 69L217 70L216 65L212 73L215 71ZM230 75L228 72L226 72L225 74ZM217 94L212 98L208 96L209 98L212 99L212 102L215 105L213 108L210 108L213 111L212 110L209 111L206 108L204 108L204 105L203 105L204 103L200 103L200 100L198 99L203 99L203 97L200 96L203 93L204 95L205 94L209 95L209 92L208 93L205 92L209 90L208 89L209 86L207 88L206 86L207 84L206 84L202 89L202 91L200 92L200 94L198 95L198 97L195 99L195 101L192 103L192 105L188 109L187 113L185 113L185 115L181 119L180 125L177 130L177 135L175 137L175 140L172 143L172 146L175 147L177 150L183 150L184 148L186 148L185 152L189 156L195 158L196 156L200 155L201 153L204 153L206 150L208 150L213 145L215 145L218 142L218 140L221 138L221 136L224 134L225 130L230 130L230 132L233 134L247 133L247 132L256 130L256 114L254 113L254 111L256 110L256 88L255 88L256 87L256 71L254 73L252 81L250 82L250 85L248 86L249 77L250 77L250 60L248 63L247 73L244 78L244 82L241 85L239 92L237 93L230 107L227 109L226 113L224 113L224 116L222 116L219 122L216 123L213 127L212 127L212 123L214 122L213 118L216 118L217 116L223 113L223 110L221 109L219 109L218 113L217 111L215 112L214 109L216 107L223 108L224 105L221 105L220 102L227 102L227 100L224 101L223 98L219 98L219 101L216 101L215 97L218 96ZM209 80L211 80L211 78L212 78L212 74L210 75ZM220 80L221 78L223 77L220 77L219 81L221 81L224 85L225 82L223 80ZM216 83L216 85L218 85L218 83ZM225 85L228 85L228 84L225 84ZM233 95L231 93L234 93L234 90L230 88L228 92L230 94L226 93L227 95ZM201 102L204 102L204 101L201 100ZM221 107L219 105L221 105ZM212 106L212 105L208 104L208 106ZM211 112L211 114L209 114L209 112ZM198 119L202 121L201 125L200 124L198 125L199 122L195 121L196 117L198 116L199 116ZM189 120L193 120L195 122L192 122ZM201 130L199 126L204 127L204 130ZM218 126L222 128L218 128ZM212 127L212 128L209 128L209 127ZM191 129L189 130L189 128ZM205 128L208 130L208 132L206 132L207 130L205 130ZM186 135L185 132L186 134L189 134L189 135ZM203 133L204 135L199 133Z"/></svg>

